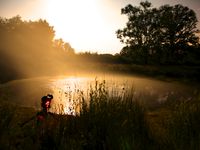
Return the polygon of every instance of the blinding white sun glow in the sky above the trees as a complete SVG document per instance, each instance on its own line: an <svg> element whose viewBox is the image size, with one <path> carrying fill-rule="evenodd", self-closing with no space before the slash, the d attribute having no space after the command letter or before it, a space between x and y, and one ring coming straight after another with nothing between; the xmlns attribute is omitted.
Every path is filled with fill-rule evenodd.
<svg viewBox="0 0 200 150"><path fill-rule="evenodd" d="M104 39L106 26L98 0L48 0L46 18L56 37L70 42L75 49L89 49ZM99 39L99 40L96 40Z"/></svg>

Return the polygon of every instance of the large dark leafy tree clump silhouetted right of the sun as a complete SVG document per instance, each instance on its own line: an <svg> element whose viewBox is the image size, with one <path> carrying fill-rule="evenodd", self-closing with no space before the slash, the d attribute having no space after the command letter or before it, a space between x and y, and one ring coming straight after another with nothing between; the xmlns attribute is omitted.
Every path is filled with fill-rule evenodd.
<svg viewBox="0 0 200 150"><path fill-rule="evenodd" d="M121 12L128 16L126 27L116 32L125 44L121 55L133 62L175 63L184 60L199 42L196 14L188 7L164 5L157 9L145 1L139 7L127 5Z"/></svg>

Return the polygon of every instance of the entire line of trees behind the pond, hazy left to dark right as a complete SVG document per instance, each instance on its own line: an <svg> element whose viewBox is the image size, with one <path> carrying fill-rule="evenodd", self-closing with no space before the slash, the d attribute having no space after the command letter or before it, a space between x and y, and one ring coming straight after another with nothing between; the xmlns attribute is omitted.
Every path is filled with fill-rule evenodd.
<svg viewBox="0 0 200 150"><path fill-rule="evenodd" d="M193 10L180 4L153 8L148 1L121 9L128 22L116 31L125 44L119 54L75 53L71 45L55 39L46 20L0 17L0 81L51 75L74 64L199 65L200 41ZM98 30L98 29L97 29Z"/></svg>

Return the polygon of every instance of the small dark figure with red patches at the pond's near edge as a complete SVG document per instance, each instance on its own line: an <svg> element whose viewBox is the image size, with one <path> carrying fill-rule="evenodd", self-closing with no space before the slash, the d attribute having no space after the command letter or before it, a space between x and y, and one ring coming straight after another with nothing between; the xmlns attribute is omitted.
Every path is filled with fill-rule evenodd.
<svg viewBox="0 0 200 150"><path fill-rule="evenodd" d="M44 121L44 119L48 116L48 111L51 108L51 101L53 99L53 95L48 94L47 96L43 96L41 98L41 107L42 110L37 113L37 123Z"/></svg>

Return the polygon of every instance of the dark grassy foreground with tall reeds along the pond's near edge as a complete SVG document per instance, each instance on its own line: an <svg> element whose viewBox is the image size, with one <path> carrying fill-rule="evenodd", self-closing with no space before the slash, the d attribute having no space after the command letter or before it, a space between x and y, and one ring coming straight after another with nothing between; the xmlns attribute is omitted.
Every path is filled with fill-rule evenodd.
<svg viewBox="0 0 200 150"><path fill-rule="evenodd" d="M151 111L131 91L110 94L105 81L95 81L76 116L51 114L20 126L36 112L1 105L0 149L199 149L199 100Z"/></svg>

